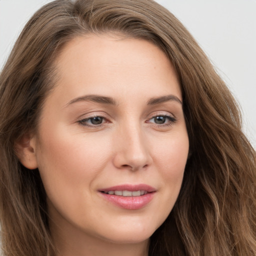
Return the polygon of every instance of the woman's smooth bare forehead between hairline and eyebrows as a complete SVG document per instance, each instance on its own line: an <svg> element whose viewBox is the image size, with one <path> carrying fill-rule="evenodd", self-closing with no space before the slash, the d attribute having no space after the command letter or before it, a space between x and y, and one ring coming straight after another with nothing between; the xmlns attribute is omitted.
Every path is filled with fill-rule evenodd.
<svg viewBox="0 0 256 256"><path fill-rule="evenodd" d="M76 37L62 48L55 65L56 87L65 90L68 98L99 91L118 96L131 90L134 95L142 91L146 96L171 89L181 100L172 63L147 40L112 34Z"/></svg>

